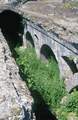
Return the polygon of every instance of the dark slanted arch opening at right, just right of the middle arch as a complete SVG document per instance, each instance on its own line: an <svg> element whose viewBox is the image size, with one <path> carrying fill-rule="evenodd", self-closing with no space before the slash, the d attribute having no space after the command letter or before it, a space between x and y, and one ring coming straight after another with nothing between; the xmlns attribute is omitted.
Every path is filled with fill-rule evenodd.
<svg viewBox="0 0 78 120"><path fill-rule="evenodd" d="M70 67L73 74L77 73L78 69L77 69L76 64L74 63L74 61L71 60L69 57L66 57L66 56L62 56L62 57L67 62L68 66Z"/></svg>

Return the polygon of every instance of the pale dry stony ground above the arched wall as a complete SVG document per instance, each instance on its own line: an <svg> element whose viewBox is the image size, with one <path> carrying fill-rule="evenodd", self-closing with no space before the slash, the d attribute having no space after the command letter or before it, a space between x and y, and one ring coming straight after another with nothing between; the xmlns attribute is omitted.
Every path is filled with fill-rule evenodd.
<svg viewBox="0 0 78 120"><path fill-rule="evenodd" d="M60 37L70 42L78 43L78 17L70 12L71 16L66 15L66 11L59 14L58 6L63 6L60 2L52 1L32 1L22 5L19 9L24 17L28 17L34 22L44 27L47 31L55 31ZM61 11L61 10L60 10ZM64 15L63 15L64 14ZM75 36L72 33L76 34Z"/></svg>

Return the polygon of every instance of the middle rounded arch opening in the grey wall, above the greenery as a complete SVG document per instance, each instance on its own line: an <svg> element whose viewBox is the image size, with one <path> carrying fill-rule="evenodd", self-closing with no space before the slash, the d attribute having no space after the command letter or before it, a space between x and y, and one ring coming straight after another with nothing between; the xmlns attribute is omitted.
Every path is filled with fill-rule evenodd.
<svg viewBox="0 0 78 120"><path fill-rule="evenodd" d="M40 54L42 59L48 60L53 58L57 62L54 53L52 52L51 48L48 45L42 46Z"/></svg>

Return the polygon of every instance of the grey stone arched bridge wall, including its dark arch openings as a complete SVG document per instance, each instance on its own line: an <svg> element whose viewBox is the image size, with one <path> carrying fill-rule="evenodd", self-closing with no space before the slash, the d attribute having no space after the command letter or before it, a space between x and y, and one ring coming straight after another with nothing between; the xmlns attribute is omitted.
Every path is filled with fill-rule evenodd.
<svg viewBox="0 0 78 120"><path fill-rule="evenodd" d="M68 92L78 86L78 44L63 40L56 33L47 32L28 20L18 6L0 7L0 27L6 39L8 34L9 38L21 38L24 47L30 43L39 58L48 59L52 56L57 61Z"/></svg>

